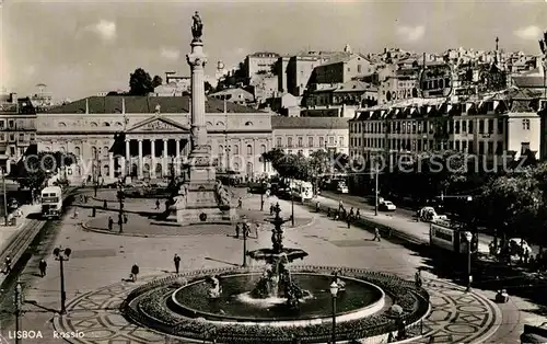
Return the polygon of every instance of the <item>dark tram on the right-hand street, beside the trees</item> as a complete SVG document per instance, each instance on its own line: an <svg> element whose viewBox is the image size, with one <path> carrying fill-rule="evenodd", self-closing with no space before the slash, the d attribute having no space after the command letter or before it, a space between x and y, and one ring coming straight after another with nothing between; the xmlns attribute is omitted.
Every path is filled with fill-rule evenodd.
<svg viewBox="0 0 547 344"><path fill-rule="evenodd" d="M449 220L433 220L429 229L429 243L441 250L467 254L467 239L465 238L467 232L469 231ZM472 253L477 250L478 238L473 234Z"/></svg>

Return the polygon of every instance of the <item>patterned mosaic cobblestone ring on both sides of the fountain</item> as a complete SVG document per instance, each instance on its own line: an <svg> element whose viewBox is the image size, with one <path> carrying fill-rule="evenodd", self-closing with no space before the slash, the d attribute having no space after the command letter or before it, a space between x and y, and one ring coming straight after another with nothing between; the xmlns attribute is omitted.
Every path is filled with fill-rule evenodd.
<svg viewBox="0 0 547 344"><path fill-rule="evenodd" d="M147 276L139 284L156 277L162 275ZM121 301L135 287L121 282L74 299L66 317L55 318L55 329L85 334L71 343L165 343L165 335L131 324L119 313ZM500 314L489 300L440 280L430 280L426 288L431 295L431 312L419 343L482 343L496 331Z"/></svg>

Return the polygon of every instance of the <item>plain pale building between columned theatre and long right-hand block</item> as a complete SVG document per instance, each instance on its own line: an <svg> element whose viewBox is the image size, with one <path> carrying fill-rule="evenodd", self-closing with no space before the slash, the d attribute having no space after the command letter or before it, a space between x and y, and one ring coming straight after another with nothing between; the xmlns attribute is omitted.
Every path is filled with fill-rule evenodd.
<svg viewBox="0 0 547 344"><path fill-rule="evenodd" d="M316 150L348 153L348 118L272 116L274 147L309 157Z"/></svg>

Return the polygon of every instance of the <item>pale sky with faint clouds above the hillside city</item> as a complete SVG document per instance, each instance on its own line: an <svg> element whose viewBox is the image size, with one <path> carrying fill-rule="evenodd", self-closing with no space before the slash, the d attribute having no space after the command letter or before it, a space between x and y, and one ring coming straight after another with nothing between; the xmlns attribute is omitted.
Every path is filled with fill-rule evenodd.
<svg viewBox="0 0 547 344"><path fill-rule="evenodd" d="M143 68L189 76L191 15L203 21L206 73L218 60L301 50L379 53L447 48L539 54L547 0L25 1L0 0L0 88L25 95L47 84L57 100L128 89Z"/></svg>

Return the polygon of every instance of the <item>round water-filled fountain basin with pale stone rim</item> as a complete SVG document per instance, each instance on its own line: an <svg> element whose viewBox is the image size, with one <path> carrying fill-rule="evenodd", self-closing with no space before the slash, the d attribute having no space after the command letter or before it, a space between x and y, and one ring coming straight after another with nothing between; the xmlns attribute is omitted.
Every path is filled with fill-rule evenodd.
<svg viewBox="0 0 547 344"><path fill-rule="evenodd" d="M331 275L294 273L293 279L309 291L298 310L291 310L282 298L252 298L249 291L259 274L237 274L223 276L222 295L211 300L206 279L190 283L175 290L167 307L182 316L202 318L210 322L240 325L306 326L331 322L331 296L328 290ZM341 277L346 291L337 297L337 321L361 319L384 308L384 291L368 282Z"/></svg>

